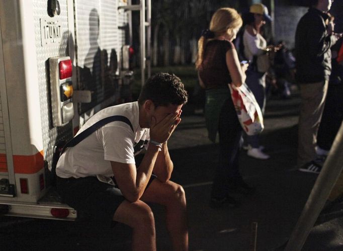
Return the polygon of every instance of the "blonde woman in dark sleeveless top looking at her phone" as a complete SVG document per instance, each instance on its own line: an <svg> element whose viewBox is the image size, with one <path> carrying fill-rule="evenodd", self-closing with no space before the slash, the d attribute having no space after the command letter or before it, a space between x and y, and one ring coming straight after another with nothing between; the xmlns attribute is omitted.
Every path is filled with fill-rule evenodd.
<svg viewBox="0 0 343 251"><path fill-rule="evenodd" d="M239 124L228 85L241 86L247 64L240 64L232 40L242 19L236 10L221 8L202 32L198 41L196 68L200 85L206 89L205 118L209 138L214 142L219 133L219 163L211 192L211 206L238 206L231 192L249 194L239 173L238 154L242 128Z"/></svg>

